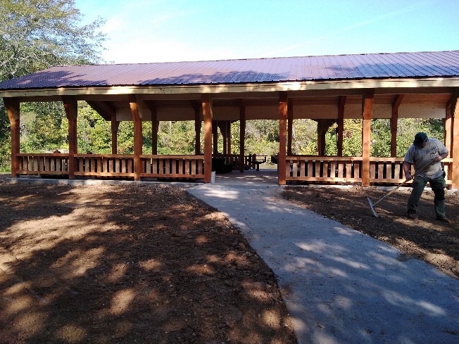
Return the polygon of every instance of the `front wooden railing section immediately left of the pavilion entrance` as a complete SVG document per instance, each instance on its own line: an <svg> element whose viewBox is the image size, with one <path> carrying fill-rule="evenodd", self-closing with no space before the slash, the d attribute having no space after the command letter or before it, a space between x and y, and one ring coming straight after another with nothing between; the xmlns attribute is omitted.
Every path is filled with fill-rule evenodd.
<svg viewBox="0 0 459 344"><path fill-rule="evenodd" d="M204 155L140 155L140 177L202 179Z"/></svg>

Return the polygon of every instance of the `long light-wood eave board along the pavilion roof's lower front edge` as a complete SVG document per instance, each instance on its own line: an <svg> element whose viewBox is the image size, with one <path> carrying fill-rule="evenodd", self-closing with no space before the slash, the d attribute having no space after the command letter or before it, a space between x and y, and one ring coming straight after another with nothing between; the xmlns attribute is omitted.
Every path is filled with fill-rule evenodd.
<svg viewBox="0 0 459 344"><path fill-rule="evenodd" d="M41 101L60 100L61 96L104 97L110 98L127 94L144 95L177 95L182 98L195 98L196 94L218 95L253 92L279 91L346 91L353 90L356 94L362 89L430 89L459 87L459 77L417 77L388 79L339 79L339 80L305 80L296 82L263 82L244 84L172 84L172 85L130 85L103 87L55 87L40 89L6 89L0 91L3 98L20 97L21 101L39 98ZM188 95L188 96L187 96Z"/></svg>

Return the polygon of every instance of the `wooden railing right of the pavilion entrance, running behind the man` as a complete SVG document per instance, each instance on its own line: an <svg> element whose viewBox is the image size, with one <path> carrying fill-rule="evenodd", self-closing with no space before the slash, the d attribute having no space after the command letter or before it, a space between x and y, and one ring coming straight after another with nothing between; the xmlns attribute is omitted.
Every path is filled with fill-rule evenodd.
<svg viewBox="0 0 459 344"><path fill-rule="evenodd" d="M451 185L453 159L442 160L446 184ZM286 180L310 183L356 184L362 182L362 157L287 156ZM414 173L413 166L411 167ZM403 158L370 158L370 184L396 185L405 180ZM409 181L407 184L409 184Z"/></svg>

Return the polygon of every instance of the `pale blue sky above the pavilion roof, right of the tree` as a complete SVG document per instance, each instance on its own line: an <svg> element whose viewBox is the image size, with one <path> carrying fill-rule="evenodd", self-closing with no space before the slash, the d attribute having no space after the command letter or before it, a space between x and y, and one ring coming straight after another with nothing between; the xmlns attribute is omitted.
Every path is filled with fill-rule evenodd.
<svg viewBox="0 0 459 344"><path fill-rule="evenodd" d="M459 0L75 0L106 63L459 50Z"/></svg>

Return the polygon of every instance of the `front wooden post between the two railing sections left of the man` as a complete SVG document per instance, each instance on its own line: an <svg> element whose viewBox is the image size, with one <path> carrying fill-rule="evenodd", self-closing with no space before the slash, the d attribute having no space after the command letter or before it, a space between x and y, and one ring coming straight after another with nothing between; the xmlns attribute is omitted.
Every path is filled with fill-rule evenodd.
<svg viewBox="0 0 459 344"><path fill-rule="evenodd" d="M362 99L362 186L370 186L371 117L373 111L374 89L367 89Z"/></svg>

